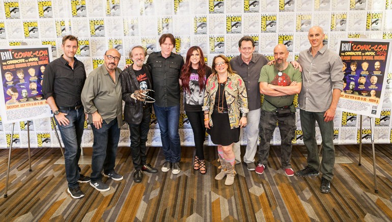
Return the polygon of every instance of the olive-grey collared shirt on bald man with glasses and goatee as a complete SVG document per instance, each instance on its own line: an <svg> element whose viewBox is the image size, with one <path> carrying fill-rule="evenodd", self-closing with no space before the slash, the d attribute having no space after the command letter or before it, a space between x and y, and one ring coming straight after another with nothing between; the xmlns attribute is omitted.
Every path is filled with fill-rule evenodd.
<svg viewBox="0 0 392 222"><path fill-rule="evenodd" d="M87 114L98 111L106 123L117 118L119 128L123 125L120 73L121 69L116 68L116 82L114 82L106 67L101 65L89 74L81 92L81 101ZM89 115L89 121L93 122L92 115Z"/></svg>

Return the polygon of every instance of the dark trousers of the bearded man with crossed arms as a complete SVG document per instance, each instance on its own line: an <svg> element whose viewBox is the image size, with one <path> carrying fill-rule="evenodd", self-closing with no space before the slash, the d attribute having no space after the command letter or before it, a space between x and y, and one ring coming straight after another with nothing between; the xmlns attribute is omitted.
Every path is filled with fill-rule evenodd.
<svg viewBox="0 0 392 222"><path fill-rule="evenodd" d="M260 147L259 147L259 163L267 165L269 155L269 144L271 142L273 131L276 128L276 121L278 121L279 131L281 132L281 162L282 168L291 168L291 141L294 138L295 113L290 113L287 117L277 117L276 112L267 112L261 110L260 116Z"/></svg>

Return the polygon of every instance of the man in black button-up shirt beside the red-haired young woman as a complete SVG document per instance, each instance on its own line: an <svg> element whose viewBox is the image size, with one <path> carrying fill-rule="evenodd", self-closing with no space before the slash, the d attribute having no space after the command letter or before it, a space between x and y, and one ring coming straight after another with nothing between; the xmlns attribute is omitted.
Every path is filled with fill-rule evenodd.
<svg viewBox="0 0 392 222"><path fill-rule="evenodd" d="M181 145L178 134L180 118L180 70L184 59L172 52L176 40L172 34L159 38L161 51L153 52L147 59L151 67L155 91L154 111L158 120L165 162L162 172L180 173Z"/></svg>

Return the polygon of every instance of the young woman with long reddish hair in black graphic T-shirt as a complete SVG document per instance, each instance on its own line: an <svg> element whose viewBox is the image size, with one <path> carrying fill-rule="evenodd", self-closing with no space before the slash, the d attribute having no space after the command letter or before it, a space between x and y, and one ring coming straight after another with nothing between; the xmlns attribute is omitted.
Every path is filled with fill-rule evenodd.
<svg viewBox="0 0 392 222"><path fill-rule="evenodd" d="M204 63L203 51L199 46L189 48L185 61L181 69L181 81L185 94L184 110L192 127L196 148L193 170L199 170L201 174L206 174L207 168L203 151L206 128L204 127L202 106L206 81L211 74L211 68Z"/></svg>

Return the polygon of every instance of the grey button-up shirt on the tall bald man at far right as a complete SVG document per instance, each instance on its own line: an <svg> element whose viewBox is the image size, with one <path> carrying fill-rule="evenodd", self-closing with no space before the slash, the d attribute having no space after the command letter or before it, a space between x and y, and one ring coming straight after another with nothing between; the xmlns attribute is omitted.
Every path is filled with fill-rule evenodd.
<svg viewBox="0 0 392 222"><path fill-rule="evenodd" d="M299 53L302 66L302 89L299 107L308 112L324 112L332 102L332 89L343 91L343 62L337 53L324 45L316 56L312 48Z"/></svg>

